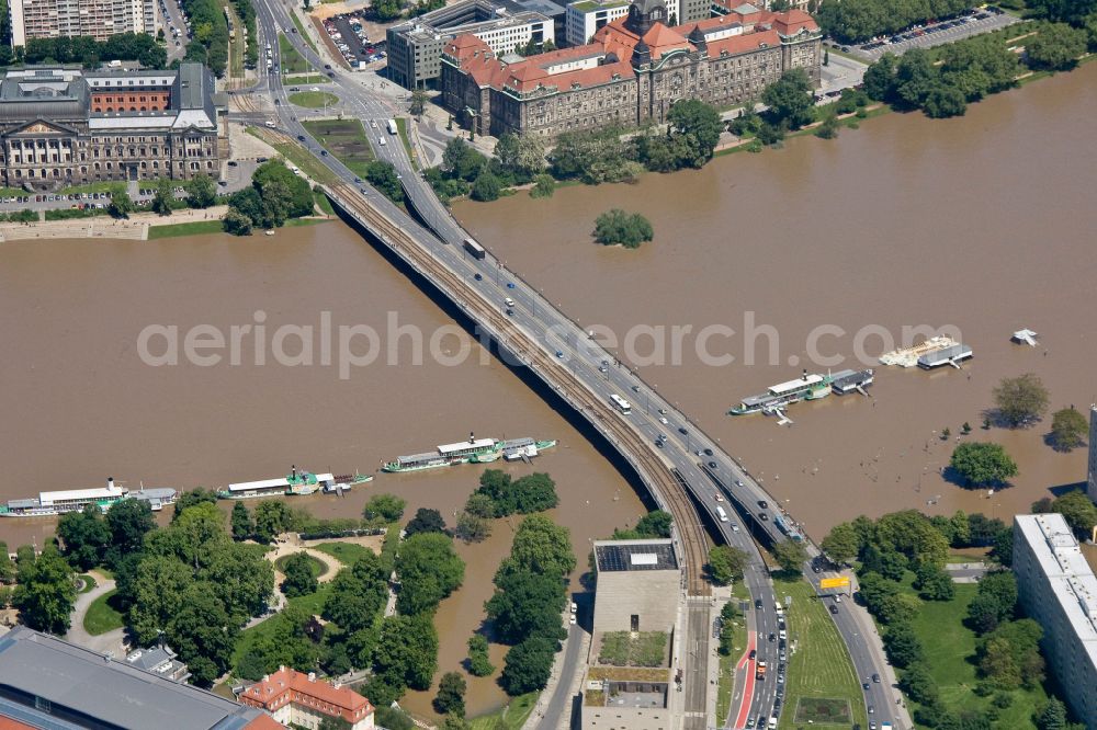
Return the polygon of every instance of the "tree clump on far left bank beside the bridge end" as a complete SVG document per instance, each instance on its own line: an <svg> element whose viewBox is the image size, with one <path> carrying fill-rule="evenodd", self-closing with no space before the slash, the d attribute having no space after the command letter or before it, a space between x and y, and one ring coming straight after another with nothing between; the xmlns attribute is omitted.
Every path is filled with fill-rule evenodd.
<svg viewBox="0 0 1097 730"><path fill-rule="evenodd" d="M313 190L281 159L263 162L251 175L251 186L228 197L225 231L247 236L253 227L278 228L289 218L313 213Z"/></svg>

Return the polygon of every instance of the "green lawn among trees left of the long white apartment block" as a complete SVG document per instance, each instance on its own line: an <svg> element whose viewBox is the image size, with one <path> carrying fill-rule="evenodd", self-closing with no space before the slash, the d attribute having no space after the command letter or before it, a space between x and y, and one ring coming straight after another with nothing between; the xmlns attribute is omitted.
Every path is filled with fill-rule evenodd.
<svg viewBox="0 0 1097 730"><path fill-rule="evenodd" d="M908 574L903 584L915 595L909 586L911 579ZM971 710L983 714L994 699L993 695L980 697L974 692L979 683L974 663L977 637L963 624L968 604L977 591L977 583L957 583L952 601L923 602L912 621L925 650L926 665L940 688L941 702L952 711ZM994 721L995 727L1032 727L1033 715L1048 702L1043 687L1031 691L1021 688L1007 694L1013 703L1009 707L996 708L998 716ZM907 698L907 704L913 711L916 703Z"/></svg>

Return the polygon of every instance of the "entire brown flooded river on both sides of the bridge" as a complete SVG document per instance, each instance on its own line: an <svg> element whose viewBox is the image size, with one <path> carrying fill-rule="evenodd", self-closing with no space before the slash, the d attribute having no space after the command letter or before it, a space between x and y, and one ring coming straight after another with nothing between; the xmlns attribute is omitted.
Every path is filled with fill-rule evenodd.
<svg viewBox="0 0 1097 730"><path fill-rule="evenodd" d="M1004 376L1038 373L1053 409L1086 407L1097 393L1095 117L1090 65L992 98L959 119L892 114L834 141L795 139L636 185L569 187L548 201L520 194L462 203L456 212L580 322L604 324L622 340L635 324L691 326L681 362L641 363L645 379L743 459L813 536L859 513L902 507L1008 518L1049 488L1085 476L1082 452L1062 455L1043 444L1047 424L1019 432L979 425ZM642 209L656 240L632 252L595 246L593 219L613 206ZM419 328L428 347L452 324L340 224L248 241L0 244L0 498L97 486L108 475L129 487L190 489L274 477L291 464L373 470L383 458L475 432L561 440L532 468L506 468L548 471L557 481L555 516L572 529L580 569L589 539L643 513L606 458L513 373L490 360L478 364L478 345L465 335L436 340L443 357L470 351L455 366L431 357L415 364L410 340L398 342L394 364L383 356L349 368L346 379L338 357L321 364L326 317L336 332L366 326L384 333L389 312L397 324ZM755 364L744 363L751 321L777 333L772 361L770 341L758 334ZM182 349L199 324L211 326L200 339L262 324L268 341L241 337L239 365L228 355L214 366L142 361L138 335L149 326L161 328L146 347L156 356L167 352L162 328L178 328ZM731 364L698 355L697 333L713 324L735 331L706 341L710 355L734 355ZM855 366L858 345L879 354L881 333L898 340L904 326L918 324L959 328L975 360L963 372L878 368L871 400L798 404L789 427L724 414L802 367L826 369L808 357L821 326L845 333L832 329L817 343L823 354L846 357L832 365L838 369ZM256 351L272 352L269 341L283 326L313 328L313 366L278 364L272 355L255 364ZM1022 327L1040 333L1039 347L1009 343ZM640 362L649 342L638 338L630 358ZM359 352L366 344L359 341ZM282 341L281 352L297 349L299 339ZM952 444L937 433L948 426L955 434L964 421L975 427L972 438L1004 443L1020 465L1014 487L993 499L939 475ZM426 505L452 521L479 470L386 475L343 500L295 503L325 516L354 515L384 490L408 500L408 516ZM460 548L466 588L439 611L440 671L464 658L516 525L500 522L489 540ZM53 527L49 520L0 524L11 546L41 545ZM428 712L430 697L411 693L408 703ZM491 680L470 677L471 714L501 702Z"/></svg>

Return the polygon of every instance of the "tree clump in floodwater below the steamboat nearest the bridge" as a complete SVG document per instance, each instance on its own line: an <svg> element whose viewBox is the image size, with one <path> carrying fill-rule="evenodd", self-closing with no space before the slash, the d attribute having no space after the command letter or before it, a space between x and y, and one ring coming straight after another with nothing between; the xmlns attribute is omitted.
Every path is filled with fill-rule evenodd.
<svg viewBox="0 0 1097 730"><path fill-rule="evenodd" d="M533 514L559 504L556 482L546 474L534 472L518 479L499 469L486 469L479 487L457 513L456 535L478 543L491 534L491 520L512 514Z"/></svg>

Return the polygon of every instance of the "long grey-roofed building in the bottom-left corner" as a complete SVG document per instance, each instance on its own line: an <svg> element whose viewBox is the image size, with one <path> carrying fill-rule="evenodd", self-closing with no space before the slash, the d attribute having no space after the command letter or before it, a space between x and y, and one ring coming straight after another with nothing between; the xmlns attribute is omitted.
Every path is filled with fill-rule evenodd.
<svg viewBox="0 0 1097 730"><path fill-rule="evenodd" d="M47 634L0 636L0 728L279 730L260 709Z"/></svg>

